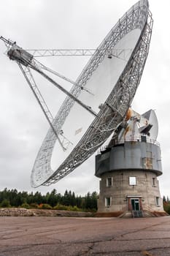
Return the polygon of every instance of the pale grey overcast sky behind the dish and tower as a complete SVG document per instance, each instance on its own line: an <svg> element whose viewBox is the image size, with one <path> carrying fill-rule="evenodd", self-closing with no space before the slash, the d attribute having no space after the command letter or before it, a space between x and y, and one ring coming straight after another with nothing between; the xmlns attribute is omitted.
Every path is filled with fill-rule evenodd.
<svg viewBox="0 0 170 256"><path fill-rule="evenodd" d="M135 0L6 0L1 3L0 36L12 39L25 49L96 48L117 20ZM150 53L132 108L144 113L156 110L159 124L163 175L159 177L161 195L170 195L170 1L150 0L154 19ZM31 169L45 138L48 124L28 88L18 65L4 55L0 42L0 190L18 189L46 193L71 189L78 195L98 191L94 176L95 156L73 173L50 187L31 188ZM76 80L87 57L52 57L42 62ZM39 79L47 104L54 116L65 95L43 78Z"/></svg>

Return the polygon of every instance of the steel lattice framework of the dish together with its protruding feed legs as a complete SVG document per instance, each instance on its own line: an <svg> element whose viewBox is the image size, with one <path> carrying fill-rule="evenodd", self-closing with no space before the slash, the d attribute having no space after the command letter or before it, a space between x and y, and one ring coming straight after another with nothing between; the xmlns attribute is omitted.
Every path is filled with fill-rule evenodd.
<svg viewBox="0 0 170 256"><path fill-rule="evenodd" d="M116 56L117 58L120 56L121 50L116 50L115 45L117 45L117 43L120 42L126 34L130 33L134 29L139 29L141 31L139 40L136 42L136 46L133 51L129 49L130 58L128 58L120 78L117 80L115 86L113 85L114 88L112 89L111 94L109 94L107 100L102 102L99 113L96 113L90 109L88 105L85 105L80 101L80 93L82 89L85 89L86 83L106 56ZM45 140L37 154L36 161L34 162L34 167L31 173L32 187L50 185L59 181L64 176L71 173L75 167L81 165L85 159L88 159L88 157L90 157L98 147L100 147L107 138L109 138L109 135L117 131L117 128L125 118L125 114L134 99L136 89L142 77L144 64L150 47L151 34L152 15L149 11L148 1L142 0L123 15L95 52L93 49L79 49L74 51L65 50L65 52L63 50L30 50L28 52L19 48L18 45L15 45L15 42L1 37L7 45L7 55L10 59L18 62L28 85L33 91L39 105L45 113L47 121L50 124L50 129L47 132ZM31 53L34 53L37 56L92 55L92 57L82 70L79 78L77 78L77 81L73 82L72 80L63 77L63 75L58 74L58 72L48 69L39 63L39 61L36 61ZM50 113L50 110L45 103L45 99L43 99L42 94L36 86L36 82L31 74L31 69L39 72L47 80L50 80L51 83L68 95L55 118L53 118ZM58 83L43 72L44 69L73 83L74 86L71 91L66 91L62 86L58 85ZM74 105L74 102L82 105L82 107L93 114L95 118L69 156L66 157L57 170L52 170L51 158L56 140L61 144L63 151L66 150L70 143L72 143L68 138L64 137L61 130Z"/></svg>

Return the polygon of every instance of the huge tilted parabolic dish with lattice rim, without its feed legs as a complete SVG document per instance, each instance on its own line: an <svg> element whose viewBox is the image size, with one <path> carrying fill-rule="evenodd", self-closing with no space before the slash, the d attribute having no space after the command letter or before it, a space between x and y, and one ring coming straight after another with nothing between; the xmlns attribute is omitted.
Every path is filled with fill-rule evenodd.
<svg viewBox="0 0 170 256"><path fill-rule="evenodd" d="M66 150L63 151L50 128L34 163L32 187L53 184L71 173L123 121L142 77L151 34L149 4L141 0L125 12L96 49L77 78L80 87L71 89L74 97L90 106L97 116L66 97L53 122ZM125 50L119 51L115 56L117 49L131 50L128 54Z"/></svg>

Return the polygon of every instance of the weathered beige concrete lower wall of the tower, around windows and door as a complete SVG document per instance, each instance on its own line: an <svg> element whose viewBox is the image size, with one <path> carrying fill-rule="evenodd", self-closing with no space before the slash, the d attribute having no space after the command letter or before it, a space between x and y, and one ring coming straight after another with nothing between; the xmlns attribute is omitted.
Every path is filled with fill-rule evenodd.
<svg viewBox="0 0 170 256"><path fill-rule="evenodd" d="M129 184L130 176L136 177L136 185ZM112 178L111 187L107 187L107 178ZM155 178L155 185L152 184L152 178ZM106 197L112 198L109 207L105 206ZM159 202L156 202L156 197L159 198ZM128 211L131 198L139 198L142 210L163 211L155 172L150 170L114 170L101 176L98 212Z"/></svg>

